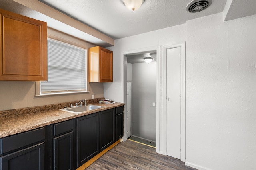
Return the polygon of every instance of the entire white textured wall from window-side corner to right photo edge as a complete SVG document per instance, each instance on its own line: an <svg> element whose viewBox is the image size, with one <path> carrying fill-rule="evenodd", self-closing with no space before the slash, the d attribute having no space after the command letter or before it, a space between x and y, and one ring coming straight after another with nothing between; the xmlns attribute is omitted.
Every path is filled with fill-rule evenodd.
<svg viewBox="0 0 256 170"><path fill-rule="evenodd" d="M118 39L109 48L114 51L114 83L104 84L104 96L124 101L122 52L161 45L162 65L163 45L186 41L186 164L207 170L255 169L255 28L256 15L223 22L220 13ZM163 143L161 116L162 109Z"/></svg>

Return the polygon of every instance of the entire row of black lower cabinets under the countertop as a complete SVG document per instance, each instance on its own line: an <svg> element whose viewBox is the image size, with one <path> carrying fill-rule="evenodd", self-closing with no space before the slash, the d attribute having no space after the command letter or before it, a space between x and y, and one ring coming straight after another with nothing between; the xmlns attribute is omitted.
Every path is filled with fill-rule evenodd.
<svg viewBox="0 0 256 170"><path fill-rule="evenodd" d="M0 139L0 170L74 170L123 136L123 106Z"/></svg>

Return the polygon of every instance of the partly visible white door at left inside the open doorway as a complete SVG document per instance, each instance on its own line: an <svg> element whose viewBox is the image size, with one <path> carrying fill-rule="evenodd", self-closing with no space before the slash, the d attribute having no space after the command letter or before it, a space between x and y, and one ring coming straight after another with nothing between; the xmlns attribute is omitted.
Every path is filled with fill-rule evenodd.
<svg viewBox="0 0 256 170"><path fill-rule="evenodd" d="M126 117L126 135L127 138L131 136L131 99L132 99L132 83L127 82L127 117Z"/></svg>

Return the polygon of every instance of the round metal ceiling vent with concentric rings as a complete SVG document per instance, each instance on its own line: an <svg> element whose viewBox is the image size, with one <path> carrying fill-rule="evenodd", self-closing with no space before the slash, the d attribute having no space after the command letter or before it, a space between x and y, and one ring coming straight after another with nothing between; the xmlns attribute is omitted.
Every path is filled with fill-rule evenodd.
<svg viewBox="0 0 256 170"><path fill-rule="evenodd" d="M212 4L212 0L192 0L186 6L188 12L200 12Z"/></svg>

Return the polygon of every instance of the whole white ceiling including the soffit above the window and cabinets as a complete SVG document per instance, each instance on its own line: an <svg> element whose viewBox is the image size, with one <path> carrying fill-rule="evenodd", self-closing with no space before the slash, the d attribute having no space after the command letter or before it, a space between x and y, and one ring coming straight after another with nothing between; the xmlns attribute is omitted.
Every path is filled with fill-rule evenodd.
<svg viewBox="0 0 256 170"><path fill-rule="evenodd" d="M49 27L102 47L114 45L114 39L220 12L225 21L256 14L256 0L212 0L197 13L186 11L190 1L145 0L136 11L128 10L122 0L0 0L0 8L46 21Z"/></svg>

